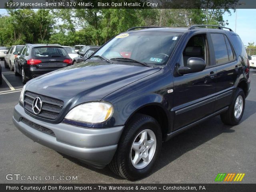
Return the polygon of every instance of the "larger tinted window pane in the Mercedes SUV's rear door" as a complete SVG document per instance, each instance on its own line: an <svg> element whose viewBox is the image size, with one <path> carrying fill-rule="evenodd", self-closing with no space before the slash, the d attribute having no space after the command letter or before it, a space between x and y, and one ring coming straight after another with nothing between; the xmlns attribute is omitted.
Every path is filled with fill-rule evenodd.
<svg viewBox="0 0 256 192"><path fill-rule="evenodd" d="M223 34L212 33L212 44L214 46L214 53L216 64L225 64L228 62L228 50L226 47Z"/></svg>

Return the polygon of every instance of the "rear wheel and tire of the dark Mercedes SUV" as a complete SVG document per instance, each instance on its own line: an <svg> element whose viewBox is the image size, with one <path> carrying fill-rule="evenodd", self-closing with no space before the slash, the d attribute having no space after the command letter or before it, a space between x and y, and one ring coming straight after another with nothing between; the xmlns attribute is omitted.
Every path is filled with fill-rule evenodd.
<svg viewBox="0 0 256 192"><path fill-rule="evenodd" d="M222 122L232 126L238 125L244 114L244 105L244 91L238 87L228 110L220 115Z"/></svg>

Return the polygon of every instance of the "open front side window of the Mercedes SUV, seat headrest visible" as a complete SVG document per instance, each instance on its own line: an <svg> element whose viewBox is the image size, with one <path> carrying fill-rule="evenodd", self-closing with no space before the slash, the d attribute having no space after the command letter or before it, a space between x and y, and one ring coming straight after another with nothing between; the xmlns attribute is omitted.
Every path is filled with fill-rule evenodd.
<svg viewBox="0 0 256 192"><path fill-rule="evenodd" d="M208 65L208 44L206 34L195 35L186 44L182 53L184 66L187 65L188 59L191 57L201 58Z"/></svg>

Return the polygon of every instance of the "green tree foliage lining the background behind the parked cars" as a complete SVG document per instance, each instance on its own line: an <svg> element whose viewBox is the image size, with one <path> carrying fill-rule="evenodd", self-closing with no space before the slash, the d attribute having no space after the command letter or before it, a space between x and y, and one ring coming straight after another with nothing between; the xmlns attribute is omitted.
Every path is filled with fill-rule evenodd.
<svg viewBox="0 0 256 192"><path fill-rule="evenodd" d="M177 3L179 2L176 0ZM202 0L206 1L206 0ZM216 0L224 2L224 0ZM235 0L236 1L236 0ZM175 0L173 0L175 2ZM226 0L234 2L234 0ZM216 4L217 5L217 4ZM228 9L8 9L0 16L0 45L57 43L101 45L134 26L227 25Z"/></svg>

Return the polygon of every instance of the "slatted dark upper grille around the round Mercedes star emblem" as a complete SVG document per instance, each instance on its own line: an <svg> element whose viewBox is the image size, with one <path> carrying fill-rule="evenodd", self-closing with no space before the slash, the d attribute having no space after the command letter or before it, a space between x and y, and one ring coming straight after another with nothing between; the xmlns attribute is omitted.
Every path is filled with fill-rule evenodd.
<svg viewBox="0 0 256 192"><path fill-rule="evenodd" d="M33 112L33 107L32 107L34 99L36 97L39 97L42 100L42 109L39 114L35 114ZM64 105L64 102L62 100L54 99L51 97L43 96L43 95L32 93L29 91L25 92L25 96L24 96L25 110L38 117L54 120L59 116L63 105Z"/></svg>

